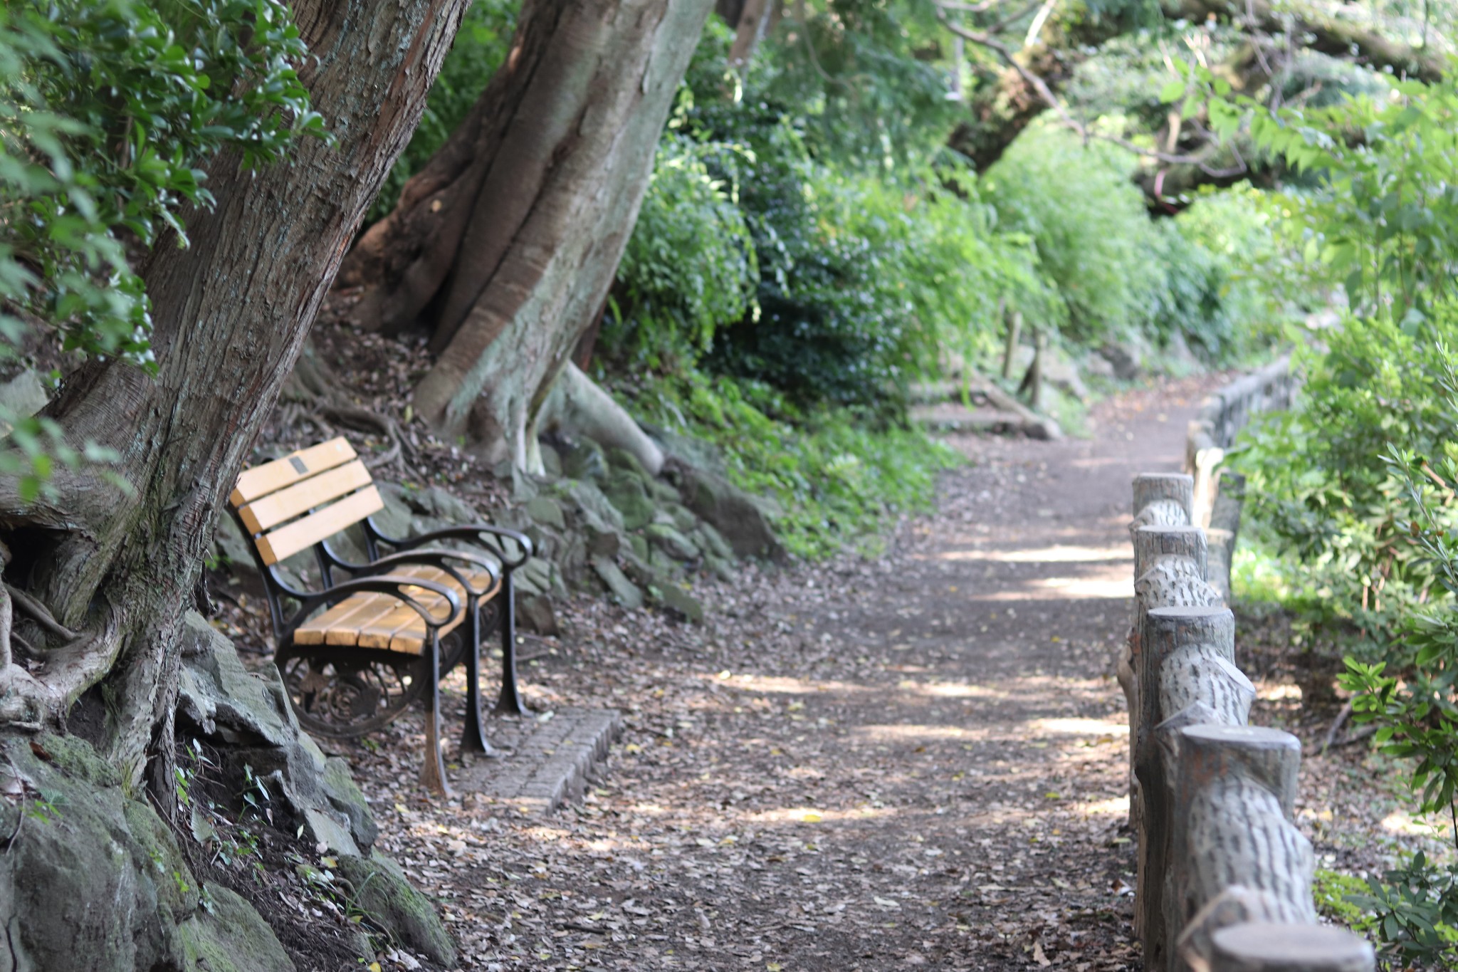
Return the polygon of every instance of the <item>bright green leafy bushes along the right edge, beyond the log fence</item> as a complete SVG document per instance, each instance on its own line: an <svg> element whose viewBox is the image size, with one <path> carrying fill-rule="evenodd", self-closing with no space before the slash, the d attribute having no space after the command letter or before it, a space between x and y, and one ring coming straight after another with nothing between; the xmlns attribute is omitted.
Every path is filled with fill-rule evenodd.
<svg viewBox="0 0 1458 972"><path fill-rule="evenodd" d="M1236 105L1258 144L1319 176L1286 194L1284 230L1357 315L1302 356L1301 408L1250 440L1247 495L1331 595L1312 608L1366 635L1340 679L1353 718L1404 761L1417 809L1452 819L1458 848L1458 89ZM1226 130L1235 115L1213 112ZM1419 853L1350 899L1391 962L1458 960L1458 866Z"/></svg>

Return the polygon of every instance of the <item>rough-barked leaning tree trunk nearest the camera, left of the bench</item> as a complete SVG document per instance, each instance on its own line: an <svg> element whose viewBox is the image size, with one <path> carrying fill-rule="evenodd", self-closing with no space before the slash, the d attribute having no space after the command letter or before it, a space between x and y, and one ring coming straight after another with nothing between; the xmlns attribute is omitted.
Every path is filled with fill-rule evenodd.
<svg viewBox="0 0 1458 972"><path fill-rule="evenodd" d="M300 76L337 143L308 140L290 163L257 173L236 156L214 160L217 208L192 216L188 249L163 239L143 268L157 375L93 363L47 409L71 443L115 449L111 471L125 488L82 469L55 478L54 498L26 503L0 478L7 580L82 632L39 647L34 672L0 672L10 723L61 721L98 686L93 742L133 781L150 756L171 762L178 630L214 513L420 119L467 3L296 0L311 51Z"/></svg>

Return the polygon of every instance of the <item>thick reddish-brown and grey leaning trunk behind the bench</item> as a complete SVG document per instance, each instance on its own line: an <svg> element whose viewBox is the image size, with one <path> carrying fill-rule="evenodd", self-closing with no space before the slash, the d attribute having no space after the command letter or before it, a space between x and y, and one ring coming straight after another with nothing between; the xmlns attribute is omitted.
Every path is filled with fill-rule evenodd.
<svg viewBox="0 0 1458 972"><path fill-rule="evenodd" d="M354 319L424 324L416 411L525 466L526 428L617 273L713 0L526 0L481 99L360 239Z"/></svg>

